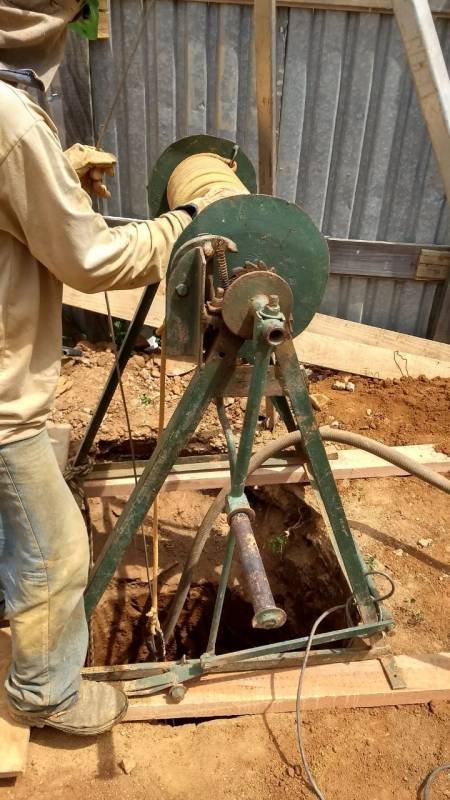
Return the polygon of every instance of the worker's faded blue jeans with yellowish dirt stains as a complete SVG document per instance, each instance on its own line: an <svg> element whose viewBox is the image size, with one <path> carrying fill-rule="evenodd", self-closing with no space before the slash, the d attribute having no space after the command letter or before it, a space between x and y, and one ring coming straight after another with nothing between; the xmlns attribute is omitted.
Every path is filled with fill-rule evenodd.
<svg viewBox="0 0 450 800"><path fill-rule="evenodd" d="M37 714L75 702L87 649L86 528L47 431L0 447L0 586L11 625L9 702Z"/></svg>

